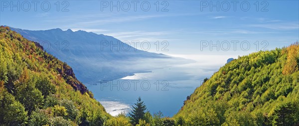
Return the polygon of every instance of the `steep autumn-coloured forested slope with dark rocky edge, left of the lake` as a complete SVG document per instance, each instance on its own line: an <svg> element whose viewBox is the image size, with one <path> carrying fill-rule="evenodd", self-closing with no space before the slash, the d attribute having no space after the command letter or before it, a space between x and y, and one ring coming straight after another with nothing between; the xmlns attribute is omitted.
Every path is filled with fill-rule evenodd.
<svg viewBox="0 0 299 126"><path fill-rule="evenodd" d="M70 66L0 27L0 126L100 126L109 118Z"/></svg>

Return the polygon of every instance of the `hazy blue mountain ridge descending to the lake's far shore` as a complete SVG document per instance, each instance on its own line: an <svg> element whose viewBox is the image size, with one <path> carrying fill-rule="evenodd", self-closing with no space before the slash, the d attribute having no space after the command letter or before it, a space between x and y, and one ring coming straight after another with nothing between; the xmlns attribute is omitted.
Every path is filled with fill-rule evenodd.
<svg viewBox="0 0 299 126"><path fill-rule="evenodd" d="M153 68L190 62L137 50L116 38L92 32L62 31L58 28L44 31L11 29L28 40L38 41L47 52L68 63L84 83L113 80ZM112 43L118 44L119 49L111 46Z"/></svg>

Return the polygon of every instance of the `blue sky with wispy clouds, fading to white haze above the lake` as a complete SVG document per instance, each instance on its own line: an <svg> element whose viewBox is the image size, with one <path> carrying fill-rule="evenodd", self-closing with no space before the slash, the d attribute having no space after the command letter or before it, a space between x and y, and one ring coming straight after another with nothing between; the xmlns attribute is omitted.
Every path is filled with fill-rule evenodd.
<svg viewBox="0 0 299 126"><path fill-rule="evenodd" d="M1 0L0 5L0 25L84 30L141 50L211 63L299 40L299 0Z"/></svg>

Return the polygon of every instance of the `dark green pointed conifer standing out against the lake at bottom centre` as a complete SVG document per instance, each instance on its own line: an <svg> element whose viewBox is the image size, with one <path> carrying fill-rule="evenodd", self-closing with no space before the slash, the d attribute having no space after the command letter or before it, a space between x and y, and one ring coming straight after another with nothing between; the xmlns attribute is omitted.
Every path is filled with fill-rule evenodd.
<svg viewBox="0 0 299 126"><path fill-rule="evenodd" d="M138 98L137 103L135 106L132 106L133 110L130 114L131 124L136 126L139 123L140 119L144 119L145 111L147 110L146 105L141 100L141 97Z"/></svg>

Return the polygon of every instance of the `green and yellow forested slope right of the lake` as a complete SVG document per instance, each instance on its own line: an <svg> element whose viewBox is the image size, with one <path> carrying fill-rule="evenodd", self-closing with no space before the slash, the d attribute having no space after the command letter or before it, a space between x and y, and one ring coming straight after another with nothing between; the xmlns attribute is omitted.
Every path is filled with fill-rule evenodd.
<svg viewBox="0 0 299 126"><path fill-rule="evenodd" d="M188 126L298 126L299 44L225 64L174 118Z"/></svg>

